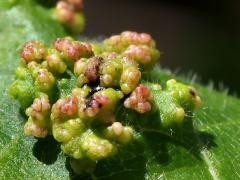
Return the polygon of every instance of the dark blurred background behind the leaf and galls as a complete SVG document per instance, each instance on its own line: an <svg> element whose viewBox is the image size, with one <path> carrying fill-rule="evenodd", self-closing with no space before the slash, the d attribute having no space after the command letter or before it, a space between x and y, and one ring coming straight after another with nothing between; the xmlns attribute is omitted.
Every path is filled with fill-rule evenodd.
<svg viewBox="0 0 240 180"><path fill-rule="evenodd" d="M85 14L86 35L148 32L163 67L240 95L239 0L85 0Z"/></svg>

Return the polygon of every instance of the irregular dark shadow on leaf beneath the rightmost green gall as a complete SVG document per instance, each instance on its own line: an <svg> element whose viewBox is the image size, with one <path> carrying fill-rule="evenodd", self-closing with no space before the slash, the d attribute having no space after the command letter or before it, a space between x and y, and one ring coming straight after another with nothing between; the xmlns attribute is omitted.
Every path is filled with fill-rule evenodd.
<svg viewBox="0 0 240 180"><path fill-rule="evenodd" d="M132 118L136 119L136 121L133 121L134 126L143 135L144 141L154 159L159 164L166 166L174 161L169 146L183 147L188 153L193 155L188 158L200 161L202 161L201 150L217 146L213 135L197 131L194 128L192 117L192 114L188 114L182 126L171 125L171 128L161 127L161 117L158 110L143 115L136 115ZM179 148L176 151L181 153ZM182 165L188 166L188 164L184 163ZM191 165L189 164L189 166Z"/></svg>

